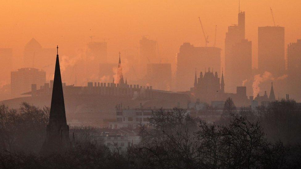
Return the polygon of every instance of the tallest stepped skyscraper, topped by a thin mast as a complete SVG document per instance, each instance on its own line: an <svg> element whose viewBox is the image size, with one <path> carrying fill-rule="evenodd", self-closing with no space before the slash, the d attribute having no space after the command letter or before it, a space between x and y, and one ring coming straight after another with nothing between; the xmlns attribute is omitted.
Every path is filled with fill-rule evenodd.
<svg viewBox="0 0 301 169"><path fill-rule="evenodd" d="M243 80L250 78L245 75L249 75L249 72L252 71L251 46L251 42L245 40L245 12L240 11L238 13L238 24L228 27L225 38L225 83L228 84L226 86L227 91L234 92L236 86L241 86ZM240 63L240 65L237 65L237 63ZM245 66L244 70L247 73L240 71L237 66Z"/></svg>

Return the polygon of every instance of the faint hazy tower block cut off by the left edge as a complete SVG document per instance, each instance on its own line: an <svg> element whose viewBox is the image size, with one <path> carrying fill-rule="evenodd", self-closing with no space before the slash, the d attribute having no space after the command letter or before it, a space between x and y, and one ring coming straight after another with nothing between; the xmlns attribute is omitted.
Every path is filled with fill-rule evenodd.
<svg viewBox="0 0 301 169"><path fill-rule="evenodd" d="M9 83L10 71L12 69L12 49L11 48L0 48L0 85Z"/></svg>

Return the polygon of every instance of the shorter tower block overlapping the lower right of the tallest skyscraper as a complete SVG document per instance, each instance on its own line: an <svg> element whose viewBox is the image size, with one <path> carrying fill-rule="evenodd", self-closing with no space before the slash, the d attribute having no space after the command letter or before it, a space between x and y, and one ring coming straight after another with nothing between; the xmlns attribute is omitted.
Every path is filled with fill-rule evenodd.
<svg viewBox="0 0 301 169"><path fill-rule="evenodd" d="M231 74L228 90L233 91L237 86L241 86L243 81L252 76L252 42L247 39L241 40L233 45L231 52ZM251 90L251 86L248 86ZM249 93L250 91L248 91Z"/></svg>

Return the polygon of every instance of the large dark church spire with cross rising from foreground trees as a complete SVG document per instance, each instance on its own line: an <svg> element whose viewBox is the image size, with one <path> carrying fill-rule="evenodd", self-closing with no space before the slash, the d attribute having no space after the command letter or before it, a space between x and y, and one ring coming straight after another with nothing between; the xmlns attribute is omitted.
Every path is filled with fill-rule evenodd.
<svg viewBox="0 0 301 169"><path fill-rule="evenodd" d="M58 48L57 46L49 123L46 127L46 139L41 149L41 154L64 153L71 148L69 126L66 121Z"/></svg>

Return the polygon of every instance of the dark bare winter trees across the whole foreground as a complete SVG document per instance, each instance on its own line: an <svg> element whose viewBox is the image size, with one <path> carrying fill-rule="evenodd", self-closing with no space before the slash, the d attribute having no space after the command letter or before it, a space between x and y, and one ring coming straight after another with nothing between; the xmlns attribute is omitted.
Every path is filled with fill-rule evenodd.
<svg viewBox="0 0 301 169"><path fill-rule="evenodd" d="M301 167L300 105L293 100L281 100L255 110L242 109L237 112L236 109L232 100L227 99L221 118L214 124L191 117L184 109L154 111L149 119L150 127L140 126L141 143L131 145L126 151L118 148L111 151L104 146L95 137L97 129L93 127L73 127L70 138L75 131L76 143L72 150L65 154L40 156L38 152L43 143L49 109L39 109L23 103L17 111L2 105L0 132L5 147L2 146L0 153L0 167ZM34 118L34 115L39 118ZM11 122L7 124L13 126L12 130L3 123L6 121ZM18 129L19 126L23 129ZM4 133L6 137L3 137ZM38 135L40 140L34 141Z"/></svg>

